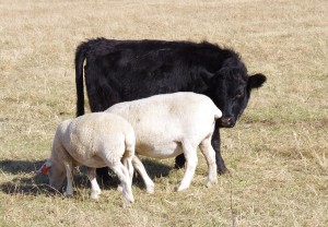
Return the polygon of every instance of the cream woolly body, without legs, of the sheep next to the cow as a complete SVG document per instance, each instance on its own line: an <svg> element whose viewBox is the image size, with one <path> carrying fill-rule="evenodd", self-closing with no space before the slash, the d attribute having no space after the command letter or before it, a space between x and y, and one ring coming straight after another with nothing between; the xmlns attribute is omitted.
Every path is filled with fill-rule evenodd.
<svg viewBox="0 0 328 227"><path fill-rule="evenodd" d="M119 103L106 110L127 119L136 132L139 154L167 158L181 153L180 144L198 145L213 132L222 112L200 94L174 93Z"/></svg>

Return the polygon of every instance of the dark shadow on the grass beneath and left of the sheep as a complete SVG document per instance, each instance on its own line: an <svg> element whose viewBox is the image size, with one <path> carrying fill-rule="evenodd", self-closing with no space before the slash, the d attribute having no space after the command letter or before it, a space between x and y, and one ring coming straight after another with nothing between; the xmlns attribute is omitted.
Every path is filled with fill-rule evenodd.
<svg viewBox="0 0 328 227"><path fill-rule="evenodd" d="M0 190L7 194L24 194L24 195L54 195L58 194L63 196L63 191L57 191L51 188L48 183L49 180L47 176L37 175L37 170L46 160L31 162L31 160L0 160L0 171L2 175L22 175L22 177L16 177L11 181L0 184ZM142 159L142 163L151 179L159 177L166 177L173 167L167 165L151 160ZM26 177L28 175L28 177ZM109 169L109 180L102 182L97 179L102 190L116 189L119 180L116 175ZM139 188L144 188L142 178L134 174L133 186ZM86 167L81 166L79 170L74 174L74 188L79 189L90 189L90 181L86 177Z"/></svg>

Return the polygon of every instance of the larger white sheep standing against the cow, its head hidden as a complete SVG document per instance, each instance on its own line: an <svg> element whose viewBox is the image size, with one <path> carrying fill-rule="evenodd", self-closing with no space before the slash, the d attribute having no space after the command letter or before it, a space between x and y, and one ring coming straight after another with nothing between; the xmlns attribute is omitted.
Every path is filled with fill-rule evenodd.
<svg viewBox="0 0 328 227"><path fill-rule="evenodd" d="M116 104L106 112L119 115L132 124L136 154L169 158L184 153L186 171L177 191L190 186L198 162L197 147L207 159L207 187L216 182L215 152L211 138L215 120L222 117L222 112L209 97L195 93L155 95ZM132 165L142 176L147 191L153 193L154 183L137 155Z"/></svg>

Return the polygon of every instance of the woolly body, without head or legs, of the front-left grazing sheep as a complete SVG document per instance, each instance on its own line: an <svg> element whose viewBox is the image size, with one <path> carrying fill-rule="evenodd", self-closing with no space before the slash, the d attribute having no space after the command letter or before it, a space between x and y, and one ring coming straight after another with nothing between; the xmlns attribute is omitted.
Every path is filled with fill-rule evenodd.
<svg viewBox="0 0 328 227"><path fill-rule="evenodd" d="M60 143L77 165L106 166L103 158L119 160L128 145L134 147L134 132L119 116L94 112L61 122L56 143Z"/></svg>

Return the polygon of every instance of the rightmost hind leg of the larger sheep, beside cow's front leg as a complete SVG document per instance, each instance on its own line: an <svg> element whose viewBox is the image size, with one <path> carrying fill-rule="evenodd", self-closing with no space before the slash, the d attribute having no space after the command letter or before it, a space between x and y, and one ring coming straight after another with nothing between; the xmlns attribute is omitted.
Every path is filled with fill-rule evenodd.
<svg viewBox="0 0 328 227"><path fill-rule="evenodd" d="M200 143L199 148L208 163L209 176L208 176L207 187L211 187L212 184L218 182L215 152L211 145L211 136L204 139Z"/></svg>

